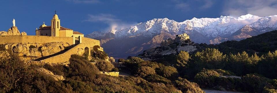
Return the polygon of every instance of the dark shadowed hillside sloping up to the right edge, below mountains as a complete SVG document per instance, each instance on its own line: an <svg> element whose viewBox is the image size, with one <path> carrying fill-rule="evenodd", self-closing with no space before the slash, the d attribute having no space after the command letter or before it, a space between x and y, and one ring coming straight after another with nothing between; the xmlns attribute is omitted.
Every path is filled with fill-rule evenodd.
<svg viewBox="0 0 277 93"><path fill-rule="evenodd" d="M217 44L223 53L236 53L239 51L254 51L267 53L277 49L277 30L266 32L241 41L225 41Z"/></svg>

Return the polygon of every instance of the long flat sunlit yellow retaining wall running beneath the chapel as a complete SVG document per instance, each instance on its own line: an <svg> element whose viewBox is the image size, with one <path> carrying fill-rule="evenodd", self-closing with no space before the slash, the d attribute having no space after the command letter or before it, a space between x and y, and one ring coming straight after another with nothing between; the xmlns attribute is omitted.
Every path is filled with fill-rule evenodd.
<svg viewBox="0 0 277 93"><path fill-rule="evenodd" d="M92 39L93 40L93 39ZM53 37L53 36L0 36L0 44L8 43L48 43L67 42L73 44L73 37Z"/></svg>

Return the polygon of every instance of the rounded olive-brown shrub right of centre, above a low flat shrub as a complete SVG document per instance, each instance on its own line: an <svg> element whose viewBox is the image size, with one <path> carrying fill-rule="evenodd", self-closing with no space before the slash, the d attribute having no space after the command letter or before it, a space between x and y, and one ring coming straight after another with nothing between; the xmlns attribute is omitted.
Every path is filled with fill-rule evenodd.
<svg viewBox="0 0 277 93"><path fill-rule="evenodd" d="M177 69L171 66L162 66L156 69L156 73L170 80L174 80L178 75Z"/></svg>

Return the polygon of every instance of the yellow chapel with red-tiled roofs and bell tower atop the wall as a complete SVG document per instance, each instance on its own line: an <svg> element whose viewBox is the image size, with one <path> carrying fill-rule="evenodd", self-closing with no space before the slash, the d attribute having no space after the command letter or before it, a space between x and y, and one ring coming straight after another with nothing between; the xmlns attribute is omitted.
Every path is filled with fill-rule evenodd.
<svg viewBox="0 0 277 93"><path fill-rule="evenodd" d="M51 26L46 26L45 23L35 30L36 36L59 36L59 37L84 37L84 34L73 31L72 29L61 26L61 20L55 14L51 20Z"/></svg>

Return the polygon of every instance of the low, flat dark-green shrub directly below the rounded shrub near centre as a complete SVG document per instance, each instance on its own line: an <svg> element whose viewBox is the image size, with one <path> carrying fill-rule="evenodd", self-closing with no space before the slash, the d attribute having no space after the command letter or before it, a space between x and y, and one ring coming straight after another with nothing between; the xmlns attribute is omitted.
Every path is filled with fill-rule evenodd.
<svg viewBox="0 0 277 93"><path fill-rule="evenodd" d="M156 74L147 75L144 77L144 79L147 80L148 82L156 82L156 83L164 83L164 84L171 83L170 80Z"/></svg>

